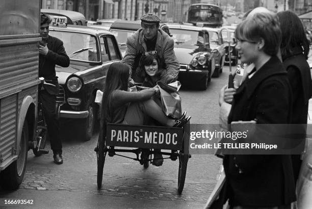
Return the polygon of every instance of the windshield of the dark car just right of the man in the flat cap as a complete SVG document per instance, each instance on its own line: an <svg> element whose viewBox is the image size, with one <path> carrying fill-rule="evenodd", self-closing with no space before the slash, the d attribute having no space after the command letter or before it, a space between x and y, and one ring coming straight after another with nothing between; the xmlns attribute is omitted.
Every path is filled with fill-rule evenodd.
<svg viewBox="0 0 312 209"><path fill-rule="evenodd" d="M170 29L174 45L195 45L203 44L203 36L199 31Z"/></svg>

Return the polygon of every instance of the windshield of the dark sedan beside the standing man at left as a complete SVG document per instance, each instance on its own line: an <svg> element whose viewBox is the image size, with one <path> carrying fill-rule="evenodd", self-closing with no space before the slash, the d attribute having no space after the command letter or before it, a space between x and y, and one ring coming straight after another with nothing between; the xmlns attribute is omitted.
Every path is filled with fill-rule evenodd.
<svg viewBox="0 0 312 209"><path fill-rule="evenodd" d="M67 31L50 31L51 36L61 39L71 60L99 62L99 53L94 36Z"/></svg>

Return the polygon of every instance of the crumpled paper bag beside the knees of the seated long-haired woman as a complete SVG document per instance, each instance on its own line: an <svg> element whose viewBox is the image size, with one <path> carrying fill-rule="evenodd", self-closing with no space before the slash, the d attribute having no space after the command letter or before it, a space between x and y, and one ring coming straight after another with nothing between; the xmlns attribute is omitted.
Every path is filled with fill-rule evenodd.
<svg viewBox="0 0 312 209"><path fill-rule="evenodd" d="M177 93L181 84L178 82L178 85L168 85L163 82L157 82L158 88L160 90L160 97L162 101L163 111L165 115L177 119L182 115L181 108L181 97Z"/></svg>

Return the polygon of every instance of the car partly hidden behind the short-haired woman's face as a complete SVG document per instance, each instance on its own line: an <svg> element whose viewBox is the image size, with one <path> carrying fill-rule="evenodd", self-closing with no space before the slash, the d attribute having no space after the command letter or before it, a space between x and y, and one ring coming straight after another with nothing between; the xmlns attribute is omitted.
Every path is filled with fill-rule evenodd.
<svg viewBox="0 0 312 209"><path fill-rule="evenodd" d="M225 48L225 63L229 63L229 53L228 53L228 46L230 45L230 52L231 52L231 65L236 66L239 60L239 51L235 48L237 44L237 40L235 38L235 29L236 26L225 26L222 27L222 38ZM230 41L230 43L229 43Z"/></svg>

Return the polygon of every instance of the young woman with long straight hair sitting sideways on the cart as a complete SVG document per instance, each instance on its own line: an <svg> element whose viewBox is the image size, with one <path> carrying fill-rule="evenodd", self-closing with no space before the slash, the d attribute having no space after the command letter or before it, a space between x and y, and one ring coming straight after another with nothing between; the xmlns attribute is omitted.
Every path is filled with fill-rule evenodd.
<svg viewBox="0 0 312 209"><path fill-rule="evenodd" d="M102 99L103 119L109 123L132 125L148 124L148 118L153 118L165 126L183 126L184 120L174 120L167 117L163 110L151 97L159 93L157 87L138 92L129 92L129 67L121 62L115 62L109 67L105 92ZM177 124L180 122L179 124Z"/></svg>

